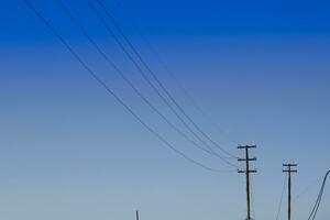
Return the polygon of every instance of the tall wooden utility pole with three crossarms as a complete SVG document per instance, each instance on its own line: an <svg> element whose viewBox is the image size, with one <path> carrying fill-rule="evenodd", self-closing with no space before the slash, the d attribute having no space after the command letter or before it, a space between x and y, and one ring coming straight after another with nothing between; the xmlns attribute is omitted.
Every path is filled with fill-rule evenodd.
<svg viewBox="0 0 330 220"><path fill-rule="evenodd" d="M246 177L246 205L248 205L248 218L246 220L251 220L251 208L250 208L250 174L256 173L256 169L250 169L250 162L256 161L256 157L250 157L249 150L256 148L256 145L245 145L245 146L238 146L240 150L245 150L245 158L239 158L239 162L245 162L245 169L239 169L239 174L245 174Z"/></svg>

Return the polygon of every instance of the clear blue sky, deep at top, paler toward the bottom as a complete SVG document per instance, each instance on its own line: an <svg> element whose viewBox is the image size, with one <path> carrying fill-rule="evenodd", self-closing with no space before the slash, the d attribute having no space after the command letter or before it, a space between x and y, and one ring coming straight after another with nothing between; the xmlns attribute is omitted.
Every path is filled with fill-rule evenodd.
<svg viewBox="0 0 330 220"><path fill-rule="evenodd" d="M195 160L232 169L170 130L56 1L32 2L157 132ZM185 130L87 1L64 2L134 85ZM293 216L307 219L318 180L330 168L329 1L121 2L129 18L116 1L105 0L194 120L238 156L243 152L235 143L258 145L251 152L258 158L252 179L255 219L275 219L285 162L299 164ZM207 172L175 154L86 73L23 1L1 3L0 219L128 220L135 209L143 220L245 218L244 176ZM145 38L219 128L193 107ZM329 206L326 189L319 220L329 219Z"/></svg>

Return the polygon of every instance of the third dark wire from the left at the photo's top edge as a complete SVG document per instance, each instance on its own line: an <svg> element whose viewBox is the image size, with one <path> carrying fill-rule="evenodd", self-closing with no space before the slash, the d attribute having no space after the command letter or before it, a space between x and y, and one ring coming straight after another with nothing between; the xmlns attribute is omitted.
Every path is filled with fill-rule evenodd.
<svg viewBox="0 0 330 220"><path fill-rule="evenodd" d="M213 155L218 156L219 158L221 158L226 164L239 168L237 165L234 165L233 163L227 161L223 156L221 156L220 154L218 154L216 151L212 150L212 147L205 142L187 123L186 121L179 116L179 113L172 107L172 105L167 101L167 99L160 92L160 90L153 85L153 82L147 78L147 76L145 75L145 73L143 72L143 69L139 66L139 64L135 62L135 59L131 56L131 54L127 51L127 48L124 47L124 45L120 42L120 40L116 36L116 34L112 32L111 28L108 25L107 21L105 20L105 18L97 11L97 9L95 8L95 6L91 3L91 1L89 1L89 6L91 8L91 10L94 11L94 13L97 15L97 18L101 21L101 23L105 25L106 30L109 32L109 34L116 40L116 42L119 44L119 46L121 47L121 50L127 54L127 56L129 57L129 59L134 64L134 66L136 67L136 69L139 70L139 73L142 75L142 77L144 78L144 80L146 80L146 82L153 88L153 90L157 94L157 96L162 99L162 101L164 101L164 103L173 111L173 113L179 119L179 121L185 125L185 128L196 138L198 139ZM232 156L231 156L232 158Z"/></svg>

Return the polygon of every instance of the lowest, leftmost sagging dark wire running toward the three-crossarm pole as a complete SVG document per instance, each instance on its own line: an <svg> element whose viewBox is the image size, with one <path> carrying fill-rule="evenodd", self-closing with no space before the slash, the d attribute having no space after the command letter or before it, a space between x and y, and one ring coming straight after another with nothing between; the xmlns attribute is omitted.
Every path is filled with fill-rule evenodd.
<svg viewBox="0 0 330 220"><path fill-rule="evenodd" d="M147 125L119 96L117 96L109 87L108 85L102 81L98 75L81 59L81 57L70 47L70 45L65 41L65 38L57 33L57 31L52 26L52 24L34 8L34 6L29 0L23 0L25 4L33 11L33 13L47 26L47 29L62 42L62 44L68 50L68 52L77 59L77 62L87 70L87 73L101 86L103 87L109 95L111 95L124 109L133 117L135 120L138 120L139 123L141 123L148 132L151 132L153 135L155 135L160 141L162 141L167 147L169 147L175 153L179 154L182 157L184 157L186 161L206 169L209 172L231 172L231 170L219 170L217 168L212 168L209 166L204 165L202 163L199 163L195 161L194 158L190 158L182 151L174 147L165 138L163 138L161 134L158 134L155 130L153 130L150 125Z"/></svg>

